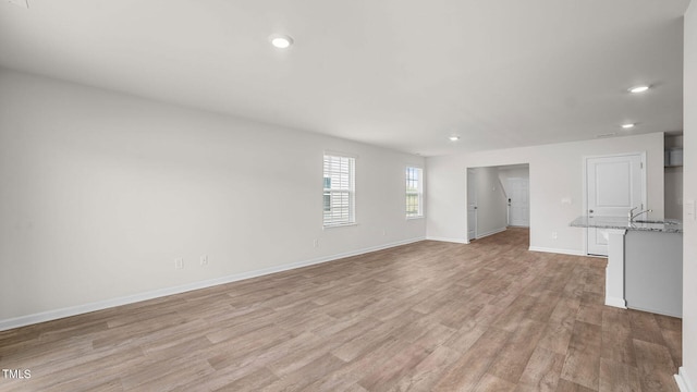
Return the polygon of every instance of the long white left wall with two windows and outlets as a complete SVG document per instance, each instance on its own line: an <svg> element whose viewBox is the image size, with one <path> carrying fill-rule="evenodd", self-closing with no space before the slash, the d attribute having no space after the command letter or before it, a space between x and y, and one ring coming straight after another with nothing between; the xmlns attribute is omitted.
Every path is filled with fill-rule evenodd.
<svg viewBox="0 0 697 392"><path fill-rule="evenodd" d="M355 226L322 230L323 150L358 156ZM0 327L423 238L424 163L0 69Z"/></svg>

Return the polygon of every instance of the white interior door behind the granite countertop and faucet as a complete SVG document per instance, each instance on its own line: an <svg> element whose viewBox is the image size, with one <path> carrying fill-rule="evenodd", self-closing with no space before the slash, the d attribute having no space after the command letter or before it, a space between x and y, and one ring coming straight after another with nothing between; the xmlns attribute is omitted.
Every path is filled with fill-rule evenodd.
<svg viewBox="0 0 697 392"><path fill-rule="evenodd" d="M627 217L644 209L644 157L640 154L586 159L586 200L589 217ZM588 228L587 253L608 256L608 234Z"/></svg>

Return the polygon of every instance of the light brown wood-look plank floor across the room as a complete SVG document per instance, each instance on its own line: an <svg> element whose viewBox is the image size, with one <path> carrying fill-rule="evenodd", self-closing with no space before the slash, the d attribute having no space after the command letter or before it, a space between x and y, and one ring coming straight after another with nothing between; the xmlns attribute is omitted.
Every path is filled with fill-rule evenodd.
<svg viewBox="0 0 697 392"><path fill-rule="evenodd" d="M677 391L681 320L510 229L0 332L0 391Z"/></svg>

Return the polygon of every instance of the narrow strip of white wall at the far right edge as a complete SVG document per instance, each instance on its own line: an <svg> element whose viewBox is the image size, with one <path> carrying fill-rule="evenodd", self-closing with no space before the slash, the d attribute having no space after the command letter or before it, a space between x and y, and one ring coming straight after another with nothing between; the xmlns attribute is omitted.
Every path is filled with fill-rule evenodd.
<svg viewBox="0 0 697 392"><path fill-rule="evenodd" d="M685 14L684 41L684 200L697 200L697 3ZM681 376L697 391L697 221L683 211L683 367ZM678 378L680 379L680 378ZM692 382L690 382L692 380ZM689 387L688 387L689 388Z"/></svg>

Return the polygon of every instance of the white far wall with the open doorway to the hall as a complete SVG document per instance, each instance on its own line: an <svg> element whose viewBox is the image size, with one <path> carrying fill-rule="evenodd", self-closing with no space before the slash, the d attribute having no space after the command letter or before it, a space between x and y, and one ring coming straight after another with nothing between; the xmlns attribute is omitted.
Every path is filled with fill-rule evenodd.
<svg viewBox="0 0 697 392"><path fill-rule="evenodd" d="M638 151L647 151L651 217L663 218L662 133L427 158L427 237L466 238L466 168L529 163L530 247L582 254L584 231L568 223L584 213L583 158Z"/></svg>

